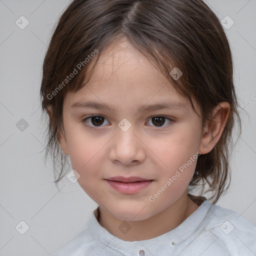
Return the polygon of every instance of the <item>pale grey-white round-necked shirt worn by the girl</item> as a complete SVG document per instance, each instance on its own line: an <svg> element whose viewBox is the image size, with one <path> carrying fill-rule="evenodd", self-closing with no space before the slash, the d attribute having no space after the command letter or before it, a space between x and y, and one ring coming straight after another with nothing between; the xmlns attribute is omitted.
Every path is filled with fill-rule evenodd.
<svg viewBox="0 0 256 256"><path fill-rule="evenodd" d="M96 210L88 226L52 256L256 256L255 226L239 213L207 200L176 228L141 241L110 234L97 221Z"/></svg>

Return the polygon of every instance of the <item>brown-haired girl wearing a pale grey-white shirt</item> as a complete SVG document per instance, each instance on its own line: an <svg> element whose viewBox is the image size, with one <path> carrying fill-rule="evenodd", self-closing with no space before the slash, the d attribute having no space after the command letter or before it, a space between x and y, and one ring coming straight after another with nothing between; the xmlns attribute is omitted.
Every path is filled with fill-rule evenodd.
<svg viewBox="0 0 256 256"><path fill-rule="evenodd" d="M54 256L256 255L252 223L215 205L240 127L232 75L201 0L70 3L43 63L47 153L98 207Z"/></svg>

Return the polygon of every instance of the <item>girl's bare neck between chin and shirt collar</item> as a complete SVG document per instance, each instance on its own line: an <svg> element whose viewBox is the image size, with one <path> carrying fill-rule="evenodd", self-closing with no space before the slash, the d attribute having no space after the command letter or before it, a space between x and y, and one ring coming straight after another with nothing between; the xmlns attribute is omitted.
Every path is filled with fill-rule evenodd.
<svg viewBox="0 0 256 256"><path fill-rule="evenodd" d="M108 211L100 206L98 222L109 233L122 240L147 240L174 229L198 207L199 206L189 198L187 192L185 192L177 201L156 215L143 220L125 221L130 226L130 230L127 233L120 232L118 228L123 220L112 216Z"/></svg>

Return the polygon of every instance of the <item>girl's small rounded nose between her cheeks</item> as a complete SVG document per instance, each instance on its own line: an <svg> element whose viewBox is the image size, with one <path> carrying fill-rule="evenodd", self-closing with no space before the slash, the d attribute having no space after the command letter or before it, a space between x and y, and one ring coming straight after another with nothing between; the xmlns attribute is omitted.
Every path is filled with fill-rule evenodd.
<svg viewBox="0 0 256 256"><path fill-rule="evenodd" d="M133 127L131 126L126 131L117 127L116 132L117 134L110 143L110 160L122 165L134 165L142 162L145 159L145 145Z"/></svg>

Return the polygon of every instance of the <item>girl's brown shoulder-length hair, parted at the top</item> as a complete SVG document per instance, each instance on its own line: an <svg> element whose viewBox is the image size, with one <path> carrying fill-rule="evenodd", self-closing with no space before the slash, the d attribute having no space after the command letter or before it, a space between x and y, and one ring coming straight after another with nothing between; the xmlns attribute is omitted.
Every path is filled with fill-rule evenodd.
<svg viewBox="0 0 256 256"><path fill-rule="evenodd" d="M209 153L198 156L189 184L189 189L200 185L201 194L211 192L209 200L215 203L230 183L232 129L236 117L240 134L241 121L229 43L218 18L202 0L73 0L70 3L51 37L40 89L43 112L47 110L50 116L45 157L49 153L52 156L54 173L58 173L54 182L64 176L67 166L66 155L58 142L58 131L63 129L63 98L67 91L84 86L84 79L88 81L100 53L121 37L126 37L189 99L194 111L191 99L196 100L202 126L210 118L213 107L221 101L229 102L223 133ZM96 51L93 65L86 64L84 60ZM78 63L82 63L81 70L65 80ZM169 75L174 67L183 73L178 80Z"/></svg>

